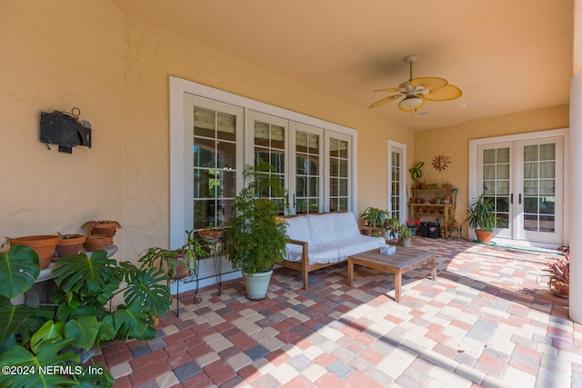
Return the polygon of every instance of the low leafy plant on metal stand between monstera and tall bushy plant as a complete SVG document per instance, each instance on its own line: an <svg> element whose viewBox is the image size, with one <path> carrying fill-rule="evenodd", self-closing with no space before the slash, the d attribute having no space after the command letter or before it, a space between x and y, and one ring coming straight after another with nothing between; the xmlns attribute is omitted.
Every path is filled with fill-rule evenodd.
<svg viewBox="0 0 582 388"><path fill-rule="evenodd" d="M186 243L176 249L147 248L139 259L140 269L149 267L167 272L170 279L180 279L196 271L198 259L208 256L204 244L196 238L195 230L186 231Z"/></svg>

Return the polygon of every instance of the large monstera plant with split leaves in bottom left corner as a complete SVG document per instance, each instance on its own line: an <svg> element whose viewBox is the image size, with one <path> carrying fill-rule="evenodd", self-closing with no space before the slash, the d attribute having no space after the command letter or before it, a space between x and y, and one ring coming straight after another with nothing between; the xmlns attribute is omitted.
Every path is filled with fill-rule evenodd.
<svg viewBox="0 0 582 388"><path fill-rule="evenodd" d="M0 253L0 367L28 372L0 373L0 386L111 386L113 378L104 369L91 373L79 365L79 353L109 340L154 338L152 315L170 308L165 272L117 263L104 251L55 262L53 303L13 304L38 274L38 255L31 248L16 245ZM119 293L123 303L111 308ZM46 367L58 373L41 373Z"/></svg>

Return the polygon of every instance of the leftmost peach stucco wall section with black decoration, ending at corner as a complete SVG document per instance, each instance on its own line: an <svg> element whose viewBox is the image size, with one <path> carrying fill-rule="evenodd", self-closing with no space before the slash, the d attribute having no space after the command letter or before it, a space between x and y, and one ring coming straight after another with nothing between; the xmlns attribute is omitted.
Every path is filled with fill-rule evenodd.
<svg viewBox="0 0 582 388"><path fill-rule="evenodd" d="M108 2L0 1L0 238L121 218L122 20ZM41 112L74 107L93 126L93 148L49 151Z"/></svg>

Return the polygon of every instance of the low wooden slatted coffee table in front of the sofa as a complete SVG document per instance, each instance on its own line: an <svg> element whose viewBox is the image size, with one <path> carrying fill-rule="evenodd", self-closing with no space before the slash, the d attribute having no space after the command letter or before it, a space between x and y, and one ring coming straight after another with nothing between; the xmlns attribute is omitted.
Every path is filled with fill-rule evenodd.
<svg viewBox="0 0 582 388"><path fill-rule="evenodd" d="M430 275L432 280L435 280L435 254L432 252L420 251L406 246L396 246L396 254L380 254L379 249L373 249L361 254L354 254L347 257L347 284L351 286L354 281L354 264L395 274L394 299L396 302L400 302L402 274L426 263L431 264Z"/></svg>

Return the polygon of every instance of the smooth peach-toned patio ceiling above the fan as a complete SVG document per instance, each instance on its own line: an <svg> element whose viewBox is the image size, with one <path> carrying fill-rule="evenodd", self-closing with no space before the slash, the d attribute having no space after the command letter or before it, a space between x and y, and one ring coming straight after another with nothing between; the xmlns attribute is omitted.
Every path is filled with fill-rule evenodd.
<svg viewBox="0 0 582 388"><path fill-rule="evenodd" d="M123 12L367 109L379 88L439 76L463 96L417 113L423 130L568 104L573 0L113 0ZM195 80L196 81L196 80ZM470 104L462 107L462 104Z"/></svg>

